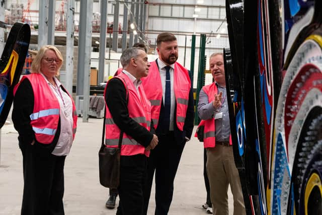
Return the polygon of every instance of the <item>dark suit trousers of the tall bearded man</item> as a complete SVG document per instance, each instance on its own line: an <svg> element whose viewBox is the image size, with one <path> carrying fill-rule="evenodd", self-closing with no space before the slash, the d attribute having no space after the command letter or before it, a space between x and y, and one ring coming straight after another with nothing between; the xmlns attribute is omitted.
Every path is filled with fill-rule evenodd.
<svg viewBox="0 0 322 215"><path fill-rule="evenodd" d="M185 142L178 144L173 134L157 136L158 145L151 150L148 158L148 175L144 188L144 214L147 214L155 171L155 214L165 215L168 214L172 201L174 180Z"/></svg>

